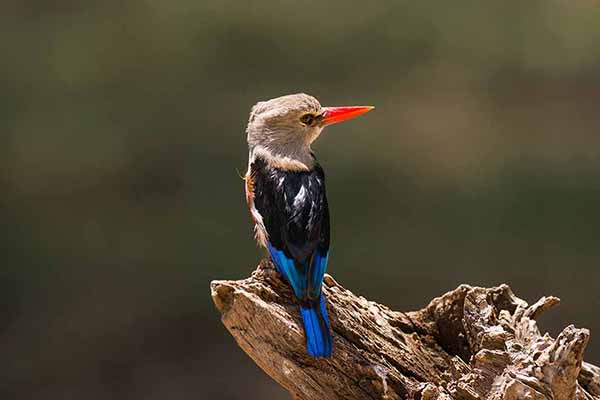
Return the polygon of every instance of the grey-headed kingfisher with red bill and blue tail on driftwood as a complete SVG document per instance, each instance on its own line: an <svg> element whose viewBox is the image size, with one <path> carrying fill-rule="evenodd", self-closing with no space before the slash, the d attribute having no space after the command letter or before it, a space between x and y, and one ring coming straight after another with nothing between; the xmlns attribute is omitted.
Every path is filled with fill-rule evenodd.
<svg viewBox="0 0 600 400"><path fill-rule="evenodd" d="M321 291L329 261L329 206L325 174L311 144L323 128L373 108L322 107L298 93L258 102L248 120L244 180L255 239L300 304L312 357L331 357L333 339Z"/></svg>

